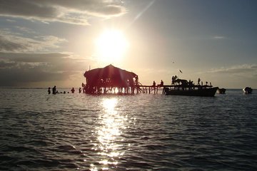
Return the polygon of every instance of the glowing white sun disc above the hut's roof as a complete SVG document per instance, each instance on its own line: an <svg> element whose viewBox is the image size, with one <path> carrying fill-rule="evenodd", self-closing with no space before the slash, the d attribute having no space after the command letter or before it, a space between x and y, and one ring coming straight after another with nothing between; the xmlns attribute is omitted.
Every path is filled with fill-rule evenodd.
<svg viewBox="0 0 257 171"><path fill-rule="evenodd" d="M108 30L96 39L96 56L101 61L114 62L124 56L128 42L124 34L118 30Z"/></svg>

